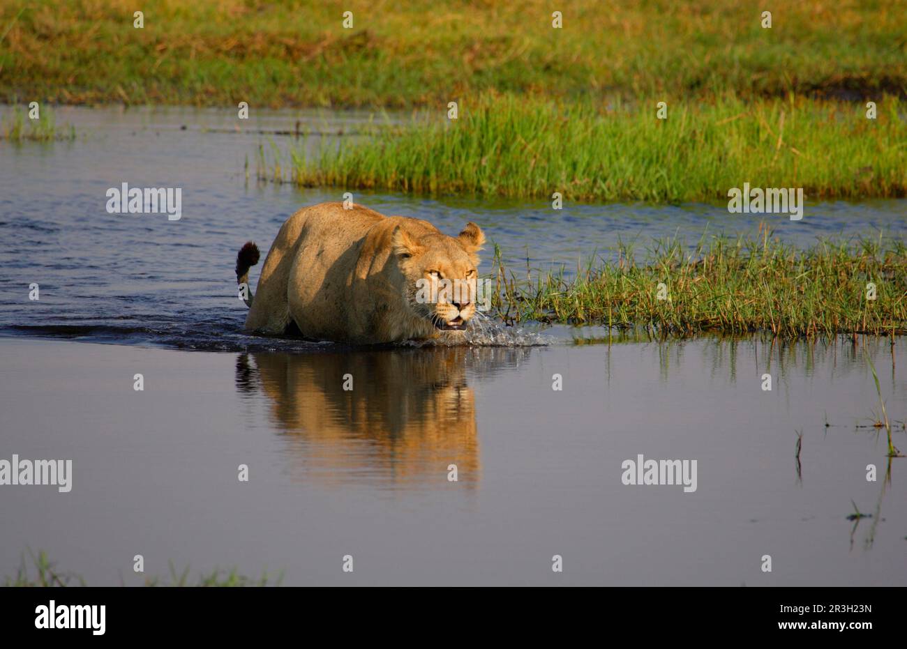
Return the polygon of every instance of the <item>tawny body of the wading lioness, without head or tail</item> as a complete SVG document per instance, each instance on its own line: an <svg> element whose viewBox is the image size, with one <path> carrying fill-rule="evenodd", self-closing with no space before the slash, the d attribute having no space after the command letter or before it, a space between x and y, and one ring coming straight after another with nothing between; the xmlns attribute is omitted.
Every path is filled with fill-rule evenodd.
<svg viewBox="0 0 907 649"><path fill-rule="evenodd" d="M349 342L434 331L421 320L413 329L414 316L399 304L405 280L385 268L398 225L415 237L438 231L422 219L385 217L358 205L298 210L268 252L247 328L281 334L293 321L307 337Z"/></svg>

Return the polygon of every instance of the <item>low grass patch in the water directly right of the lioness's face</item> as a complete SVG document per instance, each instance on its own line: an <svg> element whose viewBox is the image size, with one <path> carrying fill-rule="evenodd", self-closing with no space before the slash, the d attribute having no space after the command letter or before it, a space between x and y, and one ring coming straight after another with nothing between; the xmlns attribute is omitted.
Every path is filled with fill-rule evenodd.
<svg viewBox="0 0 907 649"><path fill-rule="evenodd" d="M881 238L881 237L880 237ZM621 245L566 276L515 271L495 249L492 314L526 321L641 327L657 336L767 332L784 338L907 334L907 247L894 240L822 240L789 247L759 237L702 237L693 247ZM866 299L866 284L877 298ZM658 299L659 284L667 299Z"/></svg>

